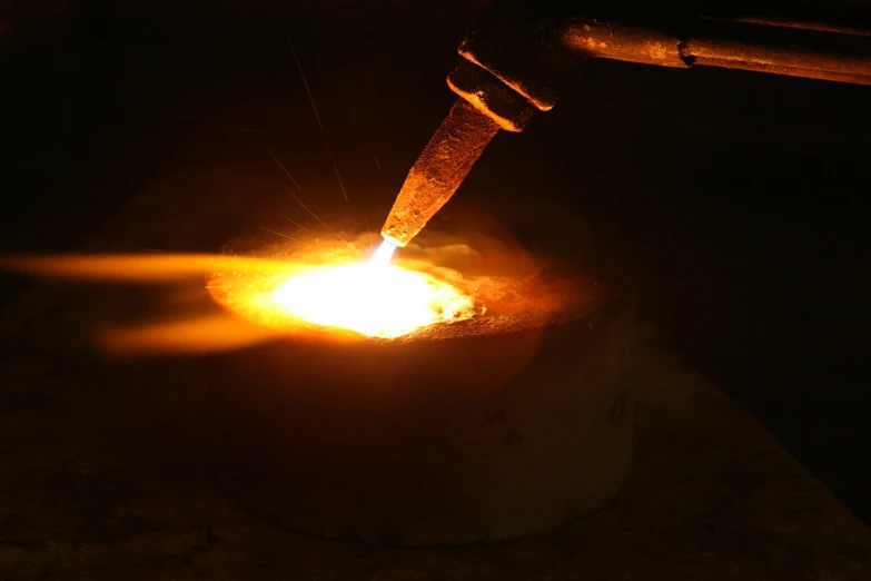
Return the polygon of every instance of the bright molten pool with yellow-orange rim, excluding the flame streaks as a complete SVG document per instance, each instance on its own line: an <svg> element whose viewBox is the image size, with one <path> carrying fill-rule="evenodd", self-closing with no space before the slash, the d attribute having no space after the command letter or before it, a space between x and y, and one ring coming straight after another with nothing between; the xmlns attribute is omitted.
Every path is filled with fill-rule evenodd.
<svg viewBox="0 0 871 581"><path fill-rule="evenodd" d="M315 327L382 339L466 321L485 311L472 293L453 284L462 278L454 270L392 263L396 248L389 243L368 260L334 254L335 245L307 248L286 256L284 272L215 273L209 282L212 296L230 312L278 332Z"/></svg>

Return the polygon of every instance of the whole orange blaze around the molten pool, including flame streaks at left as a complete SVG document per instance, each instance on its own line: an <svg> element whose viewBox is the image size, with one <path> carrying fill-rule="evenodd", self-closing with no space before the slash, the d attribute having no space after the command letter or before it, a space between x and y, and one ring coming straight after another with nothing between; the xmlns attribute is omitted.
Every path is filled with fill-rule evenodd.
<svg viewBox="0 0 871 581"><path fill-rule="evenodd" d="M511 333L540 327L577 302L568 298L577 296L571 285L538 276L544 263L483 236L432 234L397 258L387 243L366 253L367 233L295 243L251 237L220 255L0 255L0 270L109 283L92 298L77 295L77 321L92 325L71 333L120 356L234 351L281 337ZM132 295L128 286L137 287Z"/></svg>

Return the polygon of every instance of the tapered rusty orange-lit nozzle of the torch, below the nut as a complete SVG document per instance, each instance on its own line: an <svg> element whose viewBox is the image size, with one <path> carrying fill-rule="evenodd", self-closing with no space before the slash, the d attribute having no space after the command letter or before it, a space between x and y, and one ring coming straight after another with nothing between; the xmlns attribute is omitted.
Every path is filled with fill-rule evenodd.
<svg viewBox="0 0 871 581"><path fill-rule="evenodd" d="M499 126L458 99L417 158L382 228L385 239L405 246L451 199Z"/></svg>

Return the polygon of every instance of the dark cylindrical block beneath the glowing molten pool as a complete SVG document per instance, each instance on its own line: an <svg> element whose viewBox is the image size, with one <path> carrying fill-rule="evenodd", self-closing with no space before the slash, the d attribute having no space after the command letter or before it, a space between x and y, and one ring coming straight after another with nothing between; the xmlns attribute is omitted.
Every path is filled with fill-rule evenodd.
<svg viewBox="0 0 871 581"><path fill-rule="evenodd" d="M214 450L230 493L295 530L398 545L513 539L601 508L632 457L634 295L565 267L518 293L521 312L413 338L225 357Z"/></svg>

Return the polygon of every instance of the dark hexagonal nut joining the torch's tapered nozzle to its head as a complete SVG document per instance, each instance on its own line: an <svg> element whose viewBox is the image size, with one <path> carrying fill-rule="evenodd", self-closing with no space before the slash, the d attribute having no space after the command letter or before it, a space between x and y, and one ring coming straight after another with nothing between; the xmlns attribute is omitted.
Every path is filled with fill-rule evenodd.
<svg viewBox="0 0 871 581"><path fill-rule="evenodd" d="M454 69L447 85L506 131L522 131L535 111L523 96L471 62Z"/></svg>

